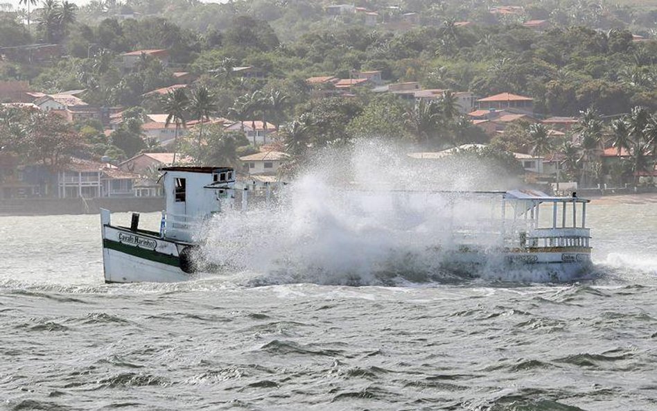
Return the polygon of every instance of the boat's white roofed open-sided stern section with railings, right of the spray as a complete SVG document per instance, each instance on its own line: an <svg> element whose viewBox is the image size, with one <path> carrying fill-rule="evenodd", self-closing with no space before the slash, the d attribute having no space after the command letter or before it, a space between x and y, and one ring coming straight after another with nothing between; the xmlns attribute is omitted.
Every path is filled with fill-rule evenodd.
<svg viewBox="0 0 657 411"><path fill-rule="evenodd" d="M466 198L496 195L501 198L492 218L459 225L450 230L453 252L446 265L465 270L537 271L554 281L586 274L591 265L590 228L586 204L577 197L547 195L536 190L469 192ZM450 207L454 207L452 204Z"/></svg>

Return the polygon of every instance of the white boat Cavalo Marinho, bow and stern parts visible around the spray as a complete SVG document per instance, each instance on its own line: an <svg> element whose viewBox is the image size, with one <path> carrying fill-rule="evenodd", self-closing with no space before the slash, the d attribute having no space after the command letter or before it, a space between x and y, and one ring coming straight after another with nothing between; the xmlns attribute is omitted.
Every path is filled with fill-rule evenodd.
<svg viewBox="0 0 657 411"><path fill-rule="evenodd" d="M247 209L249 189L236 187L233 168L176 166L160 170L166 208L158 231L140 228L137 214L130 227L122 227L112 225L109 210L100 212L106 283L193 278L200 268L195 258L203 240L195 238L200 227L223 209L234 207L236 192L242 209ZM400 191L401 195L394 193L397 200L417 198L417 192ZM575 193L570 197L535 190L430 193L441 199L443 209L436 213L436 243L427 247L439 253L447 268L477 272L494 265L502 270L541 270L550 279L563 280L577 277L590 266L589 200ZM501 199L501 205L491 201L491 195ZM490 215L471 216L481 209L470 212L463 204L476 202L487 204ZM463 213L468 214L466 218L461 217Z"/></svg>

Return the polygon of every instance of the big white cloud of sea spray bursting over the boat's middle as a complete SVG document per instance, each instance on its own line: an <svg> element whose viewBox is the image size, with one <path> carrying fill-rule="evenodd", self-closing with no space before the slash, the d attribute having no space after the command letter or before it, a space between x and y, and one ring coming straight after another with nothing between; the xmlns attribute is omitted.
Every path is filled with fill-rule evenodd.
<svg viewBox="0 0 657 411"><path fill-rule="evenodd" d="M497 176L486 173L485 164L454 168L400 152L406 150L372 141L323 150L275 204L214 218L199 235L201 259L252 273L256 283L364 285L479 276L444 270L444 257L457 247L455 225L482 250L499 245L497 202L465 193L493 186L484 177Z"/></svg>

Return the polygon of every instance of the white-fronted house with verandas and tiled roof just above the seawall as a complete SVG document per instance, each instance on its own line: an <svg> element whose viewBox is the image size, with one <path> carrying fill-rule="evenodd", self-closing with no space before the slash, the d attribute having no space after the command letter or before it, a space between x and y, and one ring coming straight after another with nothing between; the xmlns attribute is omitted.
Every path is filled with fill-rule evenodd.
<svg viewBox="0 0 657 411"><path fill-rule="evenodd" d="M139 178L112 164L73 158L57 172L57 197L134 197L132 184Z"/></svg>

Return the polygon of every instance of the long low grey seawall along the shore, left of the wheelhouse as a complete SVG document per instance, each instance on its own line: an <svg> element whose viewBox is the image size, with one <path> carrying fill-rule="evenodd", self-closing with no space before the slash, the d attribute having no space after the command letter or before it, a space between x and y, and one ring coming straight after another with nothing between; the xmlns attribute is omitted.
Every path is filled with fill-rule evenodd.
<svg viewBox="0 0 657 411"><path fill-rule="evenodd" d="M0 200L0 216L46 216L58 214L98 214L112 212L148 213L164 209L163 197L130 198L29 198Z"/></svg>

